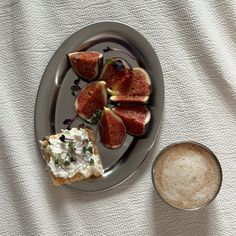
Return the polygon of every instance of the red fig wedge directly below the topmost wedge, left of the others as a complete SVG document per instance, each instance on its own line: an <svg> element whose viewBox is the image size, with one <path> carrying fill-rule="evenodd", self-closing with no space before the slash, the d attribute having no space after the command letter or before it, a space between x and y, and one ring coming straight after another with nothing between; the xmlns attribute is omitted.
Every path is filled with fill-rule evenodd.
<svg viewBox="0 0 236 236"><path fill-rule="evenodd" d="M106 82L96 81L89 83L80 91L75 99L77 114L89 120L95 112L107 105Z"/></svg>

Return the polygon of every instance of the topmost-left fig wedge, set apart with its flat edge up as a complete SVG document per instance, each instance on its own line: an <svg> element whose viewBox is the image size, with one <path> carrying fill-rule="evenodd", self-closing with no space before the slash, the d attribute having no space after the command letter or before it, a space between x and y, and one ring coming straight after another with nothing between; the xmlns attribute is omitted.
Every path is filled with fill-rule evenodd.
<svg viewBox="0 0 236 236"><path fill-rule="evenodd" d="M89 81L98 78L103 66L103 54L95 51L72 52L68 54L75 73Z"/></svg>

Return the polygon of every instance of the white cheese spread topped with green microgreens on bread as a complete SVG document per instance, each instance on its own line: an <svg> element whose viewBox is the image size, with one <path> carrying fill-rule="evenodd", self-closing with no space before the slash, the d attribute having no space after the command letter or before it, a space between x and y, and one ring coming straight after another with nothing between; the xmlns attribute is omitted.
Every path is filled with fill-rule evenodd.
<svg viewBox="0 0 236 236"><path fill-rule="evenodd" d="M93 144L85 129L62 130L58 138L49 137L48 141L47 146L43 146L43 141L40 143L50 155L48 166L54 176L72 178L81 173L88 178L94 172L104 173L100 157L94 154Z"/></svg>

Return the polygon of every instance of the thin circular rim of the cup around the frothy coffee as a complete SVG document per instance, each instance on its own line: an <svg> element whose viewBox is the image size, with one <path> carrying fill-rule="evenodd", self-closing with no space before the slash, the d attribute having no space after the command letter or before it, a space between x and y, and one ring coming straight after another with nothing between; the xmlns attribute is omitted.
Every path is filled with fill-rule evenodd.
<svg viewBox="0 0 236 236"><path fill-rule="evenodd" d="M165 153L168 149L176 146L176 145L180 145L180 144L195 144L197 146L200 146L202 147L204 150L206 150L216 161L218 167L219 167L219 170L220 170L220 183L219 183L219 186L218 186L218 189L214 195L214 197L209 201L209 202L206 202L205 204L203 204L202 206L199 206L199 207L195 207L195 208L180 208L180 207L176 207L176 206L173 206L171 205L169 202L167 202L162 196L161 194L159 193L157 187L156 187L156 184L155 184L155 180L154 180L154 174L155 174L155 167L156 167L156 164L159 160L159 158L161 157L161 155L163 153ZM154 186L154 189L156 191L156 193L159 195L159 197L169 206L175 208L175 209L178 209L178 210L184 210L184 211L193 211L193 210L199 210L203 207L206 207L207 205L209 205L211 202L213 202L213 200L216 198L216 196L218 195L218 193L220 192L220 189L221 189L221 186L222 186L222 182L223 182L223 172L222 172L222 168L221 168L221 164L218 160L218 158L216 157L216 155L213 153L213 151L211 151L208 147L206 147L205 145L201 144L201 143L198 143L198 142L195 142L195 141L180 141L180 142L174 142L174 143L171 143L169 144L168 146L166 146L165 148L163 148L156 156L155 160L153 161L153 164L152 164L152 184Z"/></svg>

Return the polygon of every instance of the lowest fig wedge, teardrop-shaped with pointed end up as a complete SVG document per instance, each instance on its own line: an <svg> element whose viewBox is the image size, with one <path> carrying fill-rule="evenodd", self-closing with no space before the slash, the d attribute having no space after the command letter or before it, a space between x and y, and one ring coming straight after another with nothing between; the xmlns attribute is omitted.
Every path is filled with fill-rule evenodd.
<svg viewBox="0 0 236 236"><path fill-rule="evenodd" d="M126 138L126 127L122 119L110 108L104 107L99 121L101 143L107 148L119 148Z"/></svg>

